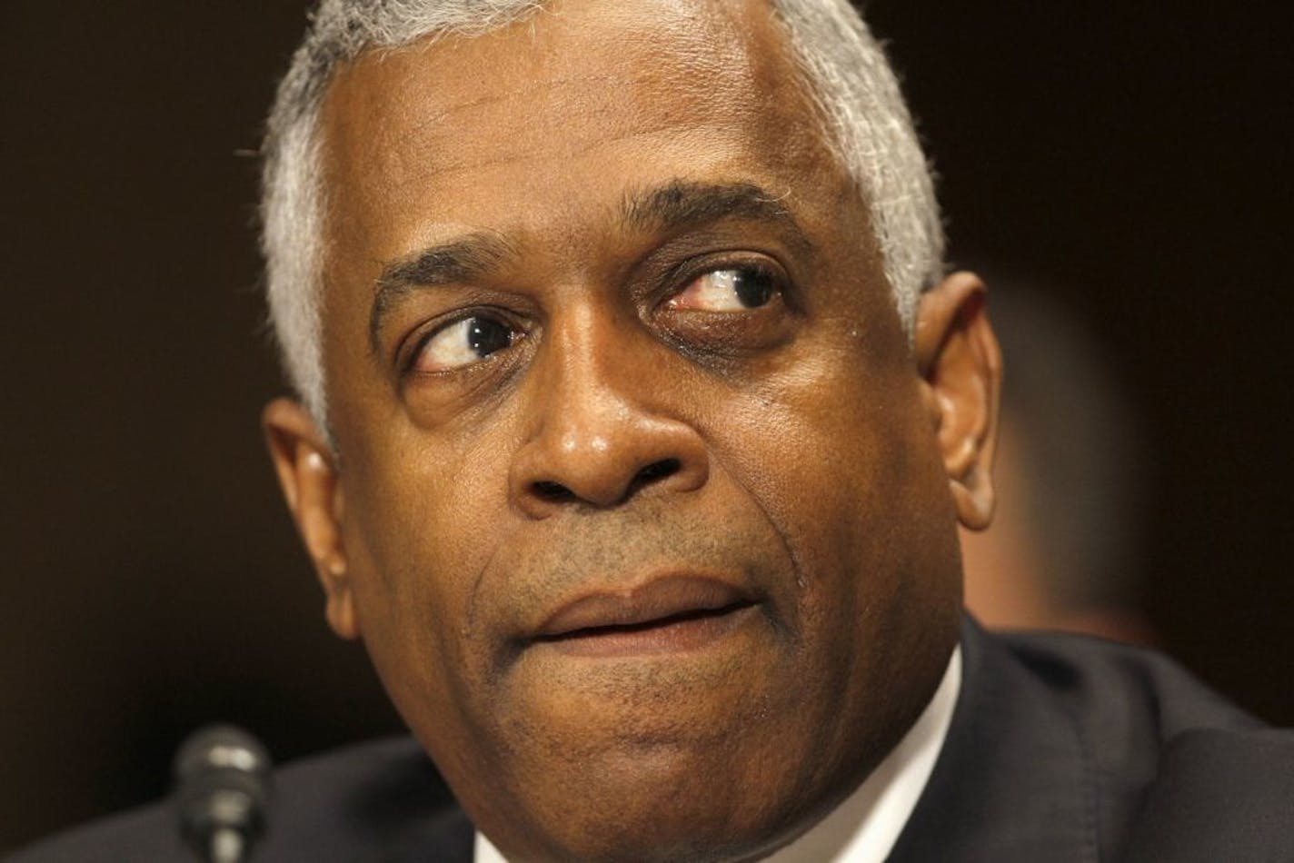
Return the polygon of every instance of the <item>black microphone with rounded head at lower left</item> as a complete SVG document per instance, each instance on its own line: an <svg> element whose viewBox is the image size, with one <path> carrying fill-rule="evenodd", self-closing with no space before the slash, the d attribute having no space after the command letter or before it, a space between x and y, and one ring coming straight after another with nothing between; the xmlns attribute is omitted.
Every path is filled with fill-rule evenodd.
<svg viewBox="0 0 1294 863"><path fill-rule="evenodd" d="M180 832L206 863L242 863L265 832L272 791L265 748L242 728L199 728L175 757Z"/></svg>

